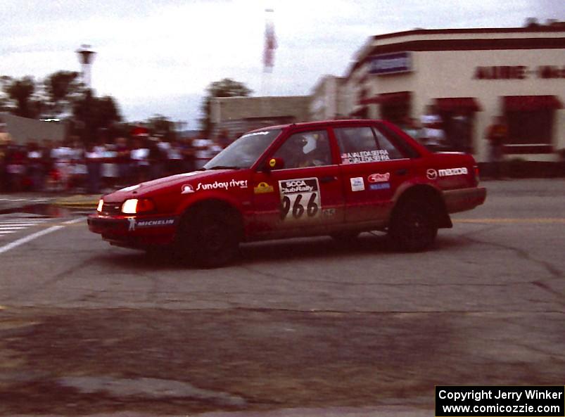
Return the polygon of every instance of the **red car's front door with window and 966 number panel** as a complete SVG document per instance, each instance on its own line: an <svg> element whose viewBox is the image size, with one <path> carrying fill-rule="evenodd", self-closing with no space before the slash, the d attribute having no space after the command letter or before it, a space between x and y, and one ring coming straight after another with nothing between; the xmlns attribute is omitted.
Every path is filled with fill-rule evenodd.
<svg viewBox="0 0 565 417"><path fill-rule="evenodd" d="M267 158L272 167L253 174L253 231L296 234L331 231L343 222L337 153L325 129L288 136Z"/></svg>

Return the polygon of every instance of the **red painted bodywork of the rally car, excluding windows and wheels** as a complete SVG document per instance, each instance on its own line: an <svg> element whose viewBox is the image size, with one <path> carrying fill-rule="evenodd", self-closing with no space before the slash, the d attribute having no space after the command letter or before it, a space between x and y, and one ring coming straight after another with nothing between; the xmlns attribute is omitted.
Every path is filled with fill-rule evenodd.
<svg viewBox="0 0 565 417"><path fill-rule="evenodd" d="M405 150L405 157L345 163L335 129L354 127L378 127ZM253 132L267 129L281 129L281 133L249 168L177 174L104 195L103 210L89 216L89 229L116 245L166 245L174 242L180 219L191 207L214 202L239 213L243 240L250 241L385 229L402 195L416 188L440 196L447 217L450 212L471 210L485 200L486 191L478 187L476 162L471 155L431 153L388 122L335 120ZM265 168L291 135L313 130L325 131L329 138L329 165ZM122 203L132 198L150 199L155 210L122 213Z"/></svg>

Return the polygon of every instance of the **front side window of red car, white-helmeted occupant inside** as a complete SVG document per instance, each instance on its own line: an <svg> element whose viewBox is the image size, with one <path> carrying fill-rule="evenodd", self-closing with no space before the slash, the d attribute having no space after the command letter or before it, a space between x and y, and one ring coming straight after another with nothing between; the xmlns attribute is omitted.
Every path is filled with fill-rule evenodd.
<svg viewBox="0 0 565 417"><path fill-rule="evenodd" d="M284 168L331 165L331 148L325 130L303 131L284 141L273 155L284 161Z"/></svg>

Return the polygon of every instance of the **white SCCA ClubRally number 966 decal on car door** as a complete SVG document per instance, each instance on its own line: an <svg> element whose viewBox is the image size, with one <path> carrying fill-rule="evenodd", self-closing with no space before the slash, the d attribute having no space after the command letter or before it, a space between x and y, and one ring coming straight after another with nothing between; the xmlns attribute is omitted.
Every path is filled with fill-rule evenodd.
<svg viewBox="0 0 565 417"><path fill-rule="evenodd" d="M284 179L279 181L281 191L281 219L303 220L317 217L320 212L317 178Z"/></svg>

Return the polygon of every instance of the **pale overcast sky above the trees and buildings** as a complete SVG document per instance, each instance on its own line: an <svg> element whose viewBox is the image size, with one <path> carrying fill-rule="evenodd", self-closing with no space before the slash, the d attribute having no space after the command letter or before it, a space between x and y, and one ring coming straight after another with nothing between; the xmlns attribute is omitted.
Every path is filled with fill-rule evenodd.
<svg viewBox="0 0 565 417"><path fill-rule="evenodd" d="M96 51L92 86L116 98L125 120L161 114L197 129L210 82L230 77L261 95L310 94L344 75L374 34L461 27L521 27L565 20L563 0L0 0L0 75L42 79L80 70ZM265 8L277 36L272 74L262 53Z"/></svg>

